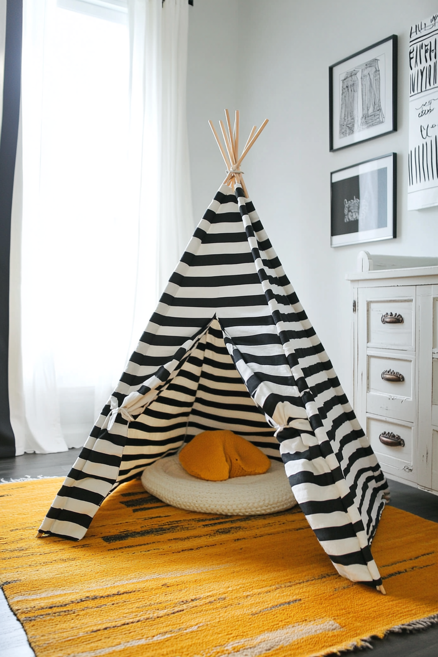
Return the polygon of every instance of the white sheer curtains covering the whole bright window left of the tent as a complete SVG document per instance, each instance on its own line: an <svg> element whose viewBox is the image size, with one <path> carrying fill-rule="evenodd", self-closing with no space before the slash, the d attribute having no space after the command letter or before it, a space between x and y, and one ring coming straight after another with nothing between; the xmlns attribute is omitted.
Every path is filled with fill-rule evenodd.
<svg viewBox="0 0 438 657"><path fill-rule="evenodd" d="M129 32L69 3L24 0L17 454L85 442L192 232L186 0L129 0Z"/></svg>

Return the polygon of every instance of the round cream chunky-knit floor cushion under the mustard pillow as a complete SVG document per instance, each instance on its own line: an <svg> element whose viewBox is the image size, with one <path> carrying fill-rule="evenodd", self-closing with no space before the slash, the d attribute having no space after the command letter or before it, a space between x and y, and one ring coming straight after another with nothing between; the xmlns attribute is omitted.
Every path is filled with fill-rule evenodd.
<svg viewBox="0 0 438 657"><path fill-rule="evenodd" d="M284 511L297 503L284 465L277 461L265 474L207 482L188 474L174 455L148 466L141 482L166 504L188 511L253 516Z"/></svg>

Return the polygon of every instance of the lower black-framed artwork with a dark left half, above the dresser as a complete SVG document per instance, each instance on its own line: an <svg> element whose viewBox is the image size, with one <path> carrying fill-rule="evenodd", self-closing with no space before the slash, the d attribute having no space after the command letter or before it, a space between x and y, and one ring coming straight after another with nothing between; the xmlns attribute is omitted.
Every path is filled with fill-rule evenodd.
<svg viewBox="0 0 438 657"><path fill-rule="evenodd" d="M396 237L395 153L331 174L332 246Z"/></svg>

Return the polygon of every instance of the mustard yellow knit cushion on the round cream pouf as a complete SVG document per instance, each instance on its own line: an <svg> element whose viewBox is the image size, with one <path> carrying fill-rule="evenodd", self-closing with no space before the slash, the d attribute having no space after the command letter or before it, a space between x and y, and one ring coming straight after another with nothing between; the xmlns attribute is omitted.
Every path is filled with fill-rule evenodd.
<svg viewBox="0 0 438 657"><path fill-rule="evenodd" d="M229 430L198 434L181 449L179 463L188 474L209 482L263 474L271 467L261 449Z"/></svg>

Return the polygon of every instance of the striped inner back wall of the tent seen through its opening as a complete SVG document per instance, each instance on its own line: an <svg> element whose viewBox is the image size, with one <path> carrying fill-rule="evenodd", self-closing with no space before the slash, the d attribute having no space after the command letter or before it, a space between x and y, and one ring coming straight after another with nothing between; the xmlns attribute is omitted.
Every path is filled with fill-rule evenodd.
<svg viewBox="0 0 438 657"><path fill-rule="evenodd" d="M282 461L274 428L248 392L213 317L153 401L129 423L118 480L137 476L200 432L215 429L229 429Z"/></svg>

